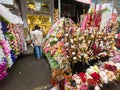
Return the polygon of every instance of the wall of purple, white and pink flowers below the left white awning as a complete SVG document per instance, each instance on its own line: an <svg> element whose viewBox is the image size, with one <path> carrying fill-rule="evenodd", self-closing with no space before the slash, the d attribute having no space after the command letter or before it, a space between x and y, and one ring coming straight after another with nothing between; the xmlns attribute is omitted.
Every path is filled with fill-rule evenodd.
<svg viewBox="0 0 120 90"><path fill-rule="evenodd" d="M7 22L3 17L0 18L1 18L0 22L0 80L1 80L5 78L5 76L8 74L7 69L13 65L13 62L17 57L16 55L18 55L20 51L23 52L24 37L22 33L22 28L20 28L21 25L12 26L13 24L9 24L9 22ZM11 25L12 27L9 28L9 25ZM8 28L10 30L8 30ZM18 29L20 29L21 31Z"/></svg>

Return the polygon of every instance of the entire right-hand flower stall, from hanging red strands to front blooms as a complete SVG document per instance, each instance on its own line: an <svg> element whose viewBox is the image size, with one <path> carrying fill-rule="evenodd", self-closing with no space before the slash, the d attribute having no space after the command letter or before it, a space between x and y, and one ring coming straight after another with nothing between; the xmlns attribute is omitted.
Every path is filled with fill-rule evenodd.
<svg viewBox="0 0 120 90"><path fill-rule="evenodd" d="M96 5L82 16L81 27L66 18L53 25L43 49L53 85L63 81L65 90L88 90L89 85L100 90L104 83L120 79L113 13L109 4Z"/></svg>

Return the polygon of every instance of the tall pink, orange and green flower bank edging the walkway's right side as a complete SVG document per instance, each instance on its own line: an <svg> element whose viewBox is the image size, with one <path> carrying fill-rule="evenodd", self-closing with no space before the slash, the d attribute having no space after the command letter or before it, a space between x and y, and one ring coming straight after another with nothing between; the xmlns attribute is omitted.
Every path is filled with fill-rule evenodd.
<svg viewBox="0 0 120 90"><path fill-rule="evenodd" d="M66 54L63 40L65 22L73 24L70 19L62 18L58 20L46 36L45 47L43 49L52 69L52 82L56 83L59 81L59 77L63 79L71 74L70 63L64 56Z"/></svg>

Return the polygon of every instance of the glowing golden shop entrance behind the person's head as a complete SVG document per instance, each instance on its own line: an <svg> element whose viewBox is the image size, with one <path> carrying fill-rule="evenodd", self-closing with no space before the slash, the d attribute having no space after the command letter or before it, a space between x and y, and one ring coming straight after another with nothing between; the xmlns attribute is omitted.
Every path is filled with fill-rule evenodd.
<svg viewBox="0 0 120 90"><path fill-rule="evenodd" d="M29 31L34 29L35 25L39 25L42 29L43 35L46 36L51 28L51 21L49 16L27 15Z"/></svg>

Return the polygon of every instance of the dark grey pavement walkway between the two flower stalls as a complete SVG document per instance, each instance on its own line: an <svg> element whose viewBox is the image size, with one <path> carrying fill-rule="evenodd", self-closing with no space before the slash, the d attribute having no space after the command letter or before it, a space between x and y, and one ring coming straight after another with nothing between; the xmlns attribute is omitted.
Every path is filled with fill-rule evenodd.
<svg viewBox="0 0 120 90"><path fill-rule="evenodd" d="M50 90L50 72L47 59L36 59L29 46L0 81L0 90Z"/></svg>

